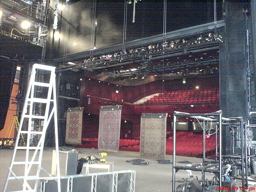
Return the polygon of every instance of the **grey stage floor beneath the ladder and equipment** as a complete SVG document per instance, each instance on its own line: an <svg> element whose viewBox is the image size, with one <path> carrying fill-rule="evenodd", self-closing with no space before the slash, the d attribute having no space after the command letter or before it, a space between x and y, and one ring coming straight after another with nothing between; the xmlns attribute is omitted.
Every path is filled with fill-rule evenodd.
<svg viewBox="0 0 256 192"><path fill-rule="evenodd" d="M97 149L86 149L86 148L76 148L79 151L79 158L85 155L95 155L99 157L99 151ZM17 159L23 157L25 151L19 151L17 153ZM121 170L136 170L136 192L171 192L172 191L172 164L160 164L154 159L142 158L149 162L148 166L138 166L127 163L126 160L132 160L135 158L140 158L139 152L131 151L119 151L119 152L107 152L107 161L114 162L114 171ZM11 149L0 149L0 190L3 189L6 177L8 174L8 167L11 163L11 158L13 155L13 150ZM166 155L167 160L172 161L172 155ZM200 163L201 158L195 157L182 157L177 156L177 161L187 160L192 163ZM52 161L52 148L46 148L43 154L42 167L48 172L51 172L51 161ZM177 165L185 165L177 163ZM64 169L63 167L61 169ZM93 169L93 172L99 170ZM91 173L91 171L90 171ZM193 175L198 175L201 178L200 173L193 173ZM45 176L45 175L44 175ZM209 175L211 178L213 175ZM187 177L187 172L179 171L176 175L176 180L181 181L182 177ZM176 186L179 183L176 183ZM15 190L20 189L19 183L12 185Z"/></svg>

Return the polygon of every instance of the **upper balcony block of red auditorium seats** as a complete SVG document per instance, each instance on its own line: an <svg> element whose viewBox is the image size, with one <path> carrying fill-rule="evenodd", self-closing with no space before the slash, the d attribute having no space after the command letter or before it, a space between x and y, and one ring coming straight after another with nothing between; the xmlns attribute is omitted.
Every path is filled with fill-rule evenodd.
<svg viewBox="0 0 256 192"><path fill-rule="evenodd" d="M215 103L219 102L218 88L207 88L204 90L176 90L160 93L145 101L148 105L158 104L193 104L193 103Z"/></svg>

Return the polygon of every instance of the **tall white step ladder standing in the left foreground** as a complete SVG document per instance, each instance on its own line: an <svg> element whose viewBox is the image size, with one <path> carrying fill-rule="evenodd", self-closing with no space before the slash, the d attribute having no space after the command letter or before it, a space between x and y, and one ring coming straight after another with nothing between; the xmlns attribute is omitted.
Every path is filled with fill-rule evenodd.
<svg viewBox="0 0 256 192"><path fill-rule="evenodd" d="M42 76L44 77L38 78ZM36 81L37 79L41 79L42 82ZM41 169L44 170L41 168L44 140L52 116L54 116L55 127L57 176L50 177L49 175L48 177L47 175L47 177L40 177ZM42 127L41 130L38 129L39 126ZM25 138L25 146L20 145L20 134L23 134ZM34 64L20 119L12 163L3 191L10 191L9 188L13 186L15 186L16 190L18 188L18 180L21 183L21 190L18 191L36 192L39 180L45 178L54 178L58 182L58 192L61 192L55 67Z"/></svg>

